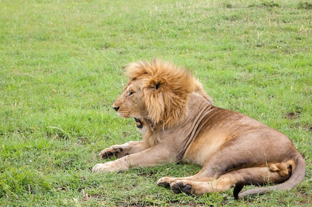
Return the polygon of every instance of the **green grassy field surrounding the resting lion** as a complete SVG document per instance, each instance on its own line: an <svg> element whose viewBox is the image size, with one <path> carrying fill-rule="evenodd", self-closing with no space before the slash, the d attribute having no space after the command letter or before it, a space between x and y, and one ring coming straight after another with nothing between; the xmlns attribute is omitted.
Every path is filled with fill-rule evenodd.
<svg viewBox="0 0 312 207"><path fill-rule="evenodd" d="M0 14L1 207L312 206L311 2L0 0ZM195 165L92 173L100 150L141 138L111 105L124 66L154 57L189 68L216 106L289 136L304 182L235 201L156 186Z"/></svg>

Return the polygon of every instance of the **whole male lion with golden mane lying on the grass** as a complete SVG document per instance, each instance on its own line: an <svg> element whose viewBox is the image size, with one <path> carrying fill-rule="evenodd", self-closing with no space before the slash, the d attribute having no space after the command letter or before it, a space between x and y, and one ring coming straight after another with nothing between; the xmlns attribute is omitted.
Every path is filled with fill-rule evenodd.
<svg viewBox="0 0 312 207"><path fill-rule="evenodd" d="M284 134L243 114L215 107L201 84L186 69L152 60L130 64L129 82L113 104L123 118L134 118L143 140L102 150L95 172L122 171L176 161L203 166L196 175L163 177L158 185L174 193L205 194L246 184L263 185L239 196L295 187L303 181L305 163Z"/></svg>

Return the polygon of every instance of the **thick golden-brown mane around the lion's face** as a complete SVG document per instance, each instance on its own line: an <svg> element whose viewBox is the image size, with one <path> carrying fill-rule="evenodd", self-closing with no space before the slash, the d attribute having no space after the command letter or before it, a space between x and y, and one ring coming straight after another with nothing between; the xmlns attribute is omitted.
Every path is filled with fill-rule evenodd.
<svg viewBox="0 0 312 207"><path fill-rule="evenodd" d="M179 123L187 112L189 94L201 87L187 69L156 59L132 63L126 70L130 81L142 79L143 102L156 126Z"/></svg>

